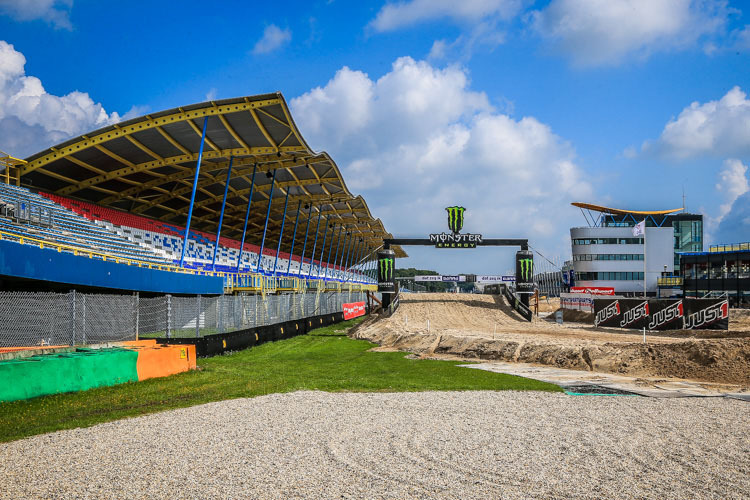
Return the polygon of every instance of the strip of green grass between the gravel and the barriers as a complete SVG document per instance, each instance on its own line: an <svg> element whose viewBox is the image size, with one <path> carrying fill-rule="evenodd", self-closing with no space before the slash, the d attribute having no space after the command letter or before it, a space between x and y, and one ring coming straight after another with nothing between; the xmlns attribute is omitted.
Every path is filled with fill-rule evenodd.
<svg viewBox="0 0 750 500"><path fill-rule="evenodd" d="M198 370L189 373L0 403L0 442L211 401L303 389L562 391L536 380L456 366L465 362L406 359L403 352L368 352L374 344L345 335L356 322L199 359Z"/></svg>

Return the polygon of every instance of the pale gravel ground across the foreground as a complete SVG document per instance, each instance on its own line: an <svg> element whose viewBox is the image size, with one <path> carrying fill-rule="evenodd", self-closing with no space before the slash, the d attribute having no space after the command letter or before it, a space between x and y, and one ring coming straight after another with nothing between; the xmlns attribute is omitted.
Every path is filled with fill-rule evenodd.
<svg viewBox="0 0 750 500"><path fill-rule="evenodd" d="M237 399L0 445L2 498L750 498L750 406L537 392Z"/></svg>

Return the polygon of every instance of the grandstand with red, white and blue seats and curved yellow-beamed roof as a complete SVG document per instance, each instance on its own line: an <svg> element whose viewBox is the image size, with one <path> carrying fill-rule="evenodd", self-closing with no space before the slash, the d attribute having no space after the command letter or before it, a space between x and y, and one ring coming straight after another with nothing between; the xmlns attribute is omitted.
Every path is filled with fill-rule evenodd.
<svg viewBox="0 0 750 500"><path fill-rule="evenodd" d="M0 155L0 177L2 293L361 293L374 290L375 252L391 237L305 143L280 93L149 114L24 160ZM179 323L198 328L206 303ZM212 318L235 304L213 303ZM246 316L213 321L221 330Z"/></svg>

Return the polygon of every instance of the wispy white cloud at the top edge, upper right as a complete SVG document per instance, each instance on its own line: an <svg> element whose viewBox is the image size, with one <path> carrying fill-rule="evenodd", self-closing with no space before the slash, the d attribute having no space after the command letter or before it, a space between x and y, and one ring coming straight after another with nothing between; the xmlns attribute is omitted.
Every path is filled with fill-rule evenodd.
<svg viewBox="0 0 750 500"><path fill-rule="evenodd" d="M693 46L720 32L728 15L721 0L552 0L530 19L554 50L598 66Z"/></svg>

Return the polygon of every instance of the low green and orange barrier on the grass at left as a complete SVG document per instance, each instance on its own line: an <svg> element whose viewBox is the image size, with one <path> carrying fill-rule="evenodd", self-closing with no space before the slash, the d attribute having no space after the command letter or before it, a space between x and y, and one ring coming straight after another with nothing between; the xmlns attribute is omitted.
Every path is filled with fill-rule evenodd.
<svg viewBox="0 0 750 500"><path fill-rule="evenodd" d="M155 340L124 344L0 361L0 402L166 377L196 367L192 345L164 346Z"/></svg>

